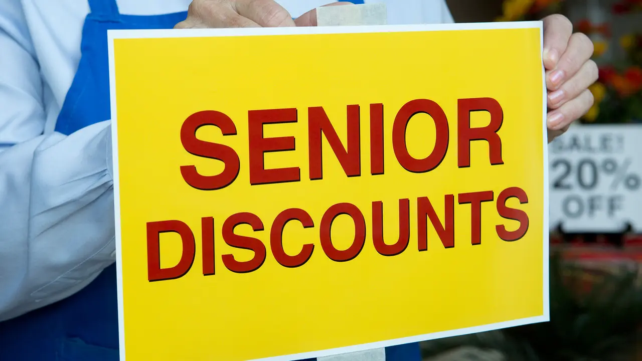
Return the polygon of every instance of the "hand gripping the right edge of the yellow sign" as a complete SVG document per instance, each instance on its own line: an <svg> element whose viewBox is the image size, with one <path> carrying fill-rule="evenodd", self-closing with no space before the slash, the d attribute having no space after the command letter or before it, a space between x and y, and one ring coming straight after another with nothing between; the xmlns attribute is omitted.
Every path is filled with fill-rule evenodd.
<svg viewBox="0 0 642 361"><path fill-rule="evenodd" d="M589 86L598 79L598 67L591 60L593 42L583 33L573 33L573 24L566 17L550 15L543 21L550 142L591 109Z"/></svg>

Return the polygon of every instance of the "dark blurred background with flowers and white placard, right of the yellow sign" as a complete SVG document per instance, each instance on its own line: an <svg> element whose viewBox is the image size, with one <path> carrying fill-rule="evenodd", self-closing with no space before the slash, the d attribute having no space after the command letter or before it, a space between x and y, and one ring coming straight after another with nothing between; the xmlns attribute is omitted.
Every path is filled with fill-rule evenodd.
<svg viewBox="0 0 642 361"><path fill-rule="evenodd" d="M450 0L456 22L562 13L595 104L550 145L551 322L424 342L424 360L642 360L642 0Z"/></svg>

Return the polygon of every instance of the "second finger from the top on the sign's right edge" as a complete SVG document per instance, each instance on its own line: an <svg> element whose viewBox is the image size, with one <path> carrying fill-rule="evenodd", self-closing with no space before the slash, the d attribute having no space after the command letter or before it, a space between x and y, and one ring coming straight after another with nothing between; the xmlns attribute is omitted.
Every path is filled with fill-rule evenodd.
<svg viewBox="0 0 642 361"><path fill-rule="evenodd" d="M546 87L555 90L575 73L593 56L593 42L583 33L571 35L566 52L562 54L557 66L546 75Z"/></svg>

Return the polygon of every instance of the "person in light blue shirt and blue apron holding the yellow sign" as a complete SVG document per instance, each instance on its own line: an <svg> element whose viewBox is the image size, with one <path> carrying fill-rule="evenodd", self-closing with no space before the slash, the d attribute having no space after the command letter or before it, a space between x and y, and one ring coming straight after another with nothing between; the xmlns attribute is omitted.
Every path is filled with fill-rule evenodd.
<svg viewBox="0 0 642 361"><path fill-rule="evenodd" d="M107 30L315 26L324 1L0 1L0 360L118 359ZM390 24L453 22L444 0L385 2ZM592 53L544 19L550 139L593 103ZM345 359L420 360L369 355Z"/></svg>

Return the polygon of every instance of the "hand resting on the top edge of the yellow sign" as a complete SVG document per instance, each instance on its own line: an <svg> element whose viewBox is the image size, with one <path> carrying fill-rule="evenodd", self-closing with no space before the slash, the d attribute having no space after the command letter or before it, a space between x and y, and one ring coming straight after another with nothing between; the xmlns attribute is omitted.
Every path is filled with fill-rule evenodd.
<svg viewBox="0 0 642 361"><path fill-rule="evenodd" d="M351 3L331 3L325 6ZM187 28L272 28L279 26L317 26L317 10L292 20L288 10L273 0L193 0L187 19L176 29Z"/></svg>

